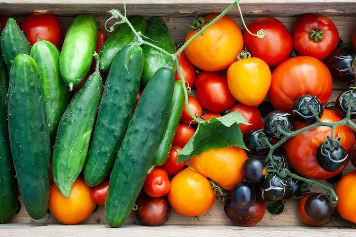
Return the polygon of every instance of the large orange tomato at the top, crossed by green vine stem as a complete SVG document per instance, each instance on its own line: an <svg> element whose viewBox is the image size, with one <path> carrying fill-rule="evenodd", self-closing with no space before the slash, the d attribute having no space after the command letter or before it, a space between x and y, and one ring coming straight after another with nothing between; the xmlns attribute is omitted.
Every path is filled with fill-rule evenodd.
<svg viewBox="0 0 356 237"><path fill-rule="evenodd" d="M214 20L219 14L209 14L205 22ZM208 23L203 24L204 28ZM186 42L200 29L188 30ZM227 16L220 18L204 30L184 49L189 60L199 69L217 72L227 69L243 50L244 42L240 27Z"/></svg>

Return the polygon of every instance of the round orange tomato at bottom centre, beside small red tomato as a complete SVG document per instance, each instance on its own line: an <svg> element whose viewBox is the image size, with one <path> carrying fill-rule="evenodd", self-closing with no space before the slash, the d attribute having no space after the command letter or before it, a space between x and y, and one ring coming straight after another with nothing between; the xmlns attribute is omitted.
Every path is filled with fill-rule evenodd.
<svg viewBox="0 0 356 237"><path fill-rule="evenodd" d="M209 180L189 167L173 177L167 197L173 210L184 216L209 211L216 199Z"/></svg>

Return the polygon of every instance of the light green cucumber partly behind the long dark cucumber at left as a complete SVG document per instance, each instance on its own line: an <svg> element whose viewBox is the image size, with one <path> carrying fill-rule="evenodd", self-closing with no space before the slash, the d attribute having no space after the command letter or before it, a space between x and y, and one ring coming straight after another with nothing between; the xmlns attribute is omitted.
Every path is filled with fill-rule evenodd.
<svg viewBox="0 0 356 237"><path fill-rule="evenodd" d="M60 73L60 51L49 41L38 41L32 46L30 55L40 70L47 101L49 136L53 144L61 116L69 104L67 85Z"/></svg>

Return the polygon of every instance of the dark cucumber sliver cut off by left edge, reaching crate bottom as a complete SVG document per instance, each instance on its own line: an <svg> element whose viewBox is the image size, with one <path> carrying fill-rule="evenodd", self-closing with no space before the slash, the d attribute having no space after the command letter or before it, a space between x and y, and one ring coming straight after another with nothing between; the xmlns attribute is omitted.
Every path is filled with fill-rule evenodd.
<svg viewBox="0 0 356 237"><path fill-rule="evenodd" d="M11 221L17 208L17 180L10 151L4 97L6 95L0 90L0 224Z"/></svg>

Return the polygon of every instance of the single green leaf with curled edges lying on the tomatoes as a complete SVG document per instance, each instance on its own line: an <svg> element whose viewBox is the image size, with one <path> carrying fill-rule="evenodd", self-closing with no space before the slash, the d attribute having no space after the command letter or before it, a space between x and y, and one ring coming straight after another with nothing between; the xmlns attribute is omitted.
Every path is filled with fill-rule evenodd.
<svg viewBox="0 0 356 237"><path fill-rule="evenodd" d="M209 121L198 124L193 137L187 145L178 152L177 162L190 159L194 155L200 155L204 151L238 146L247 149L239 124L249 124L238 112L226 114L220 118L213 117Z"/></svg>

